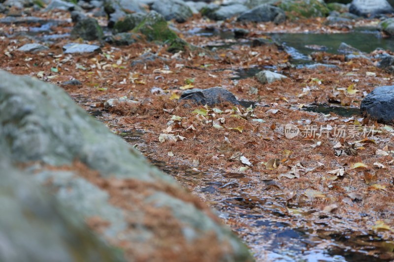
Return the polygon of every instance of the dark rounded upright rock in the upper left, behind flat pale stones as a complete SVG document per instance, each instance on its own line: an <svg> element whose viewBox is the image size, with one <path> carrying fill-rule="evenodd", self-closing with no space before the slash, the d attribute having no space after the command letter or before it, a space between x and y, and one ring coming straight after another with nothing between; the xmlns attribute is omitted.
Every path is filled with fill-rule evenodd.
<svg viewBox="0 0 394 262"><path fill-rule="evenodd" d="M81 37L84 40L99 40L103 36L102 29L96 19L86 17L78 21L71 30L71 37Z"/></svg>

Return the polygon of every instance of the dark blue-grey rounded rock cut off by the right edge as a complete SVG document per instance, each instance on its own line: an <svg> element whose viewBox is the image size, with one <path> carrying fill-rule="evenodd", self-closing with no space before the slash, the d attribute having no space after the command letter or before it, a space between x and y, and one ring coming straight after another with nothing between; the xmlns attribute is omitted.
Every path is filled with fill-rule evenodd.
<svg viewBox="0 0 394 262"><path fill-rule="evenodd" d="M380 122L394 121L394 86L376 87L361 101L361 112Z"/></svg>

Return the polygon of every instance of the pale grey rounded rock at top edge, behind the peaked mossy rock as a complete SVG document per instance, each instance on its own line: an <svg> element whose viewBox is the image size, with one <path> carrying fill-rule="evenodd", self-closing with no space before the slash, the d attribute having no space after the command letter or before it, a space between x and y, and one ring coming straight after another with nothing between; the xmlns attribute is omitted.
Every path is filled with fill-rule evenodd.
<svg viewBox="0 0 394 262"><path fill-rule="evenodd" d="M178 23L184 23L193 16L192 10L182 0L156 0L152 10L161 14L165 20L174 19Z"/></svg>

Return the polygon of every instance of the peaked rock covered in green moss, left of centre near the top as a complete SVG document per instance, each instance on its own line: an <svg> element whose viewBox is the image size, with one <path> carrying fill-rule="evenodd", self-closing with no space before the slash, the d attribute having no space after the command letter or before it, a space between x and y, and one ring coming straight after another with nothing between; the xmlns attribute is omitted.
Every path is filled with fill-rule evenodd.
<svg viewBox="0 0 394 262"><path fill-rule="evenodd" d="M148 41L166 42L178 38L176 33L168 28L164 17L155 11L150 11L132 32L142 33Z"/></svg>

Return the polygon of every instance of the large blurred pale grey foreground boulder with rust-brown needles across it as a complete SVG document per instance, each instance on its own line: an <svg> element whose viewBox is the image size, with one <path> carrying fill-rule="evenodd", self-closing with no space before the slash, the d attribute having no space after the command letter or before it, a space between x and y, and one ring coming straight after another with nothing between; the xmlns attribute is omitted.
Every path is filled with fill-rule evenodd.
<svg viewBox="0 0 394 262"><path fill-rule="evenodd" d="M127 261L166 261L169 257L172 261L190 261L201 256L211 261L252 260L245 245L197 197L151 167L132 146L75 105L63 89L4 71L0 71L0 79L1 152L70 208L57 220L66 215L82 216L106 241L123 250ZM3 184L4 179L1 181ZM13 187L7 186L4 192L10 190ZM17 192L29 206L39 206L40 200ZM37 212L47 216L56 213L53 206L47 208ZM1 214L2 219L8 212ZM31 218L35 213L20 212L10 217L16 220L27 215ZM0 232L14 232L15 223L11 222L9 228L0 224ZM63 232L62 226L43 231L40 237L59 231ZM62 239L69 239L80 252L90 251L83 245L88 243L83 235L67 238L72 230L64 231L60 233ZM21 232L24 237L30 233L25 228ZM28 252L36 241L27 243L18 246L17 253ZM65 261L94 261L78 256L79 252L73 255ZM99 257L97 261L113 261L100 253L93 255Z"/></svg>

